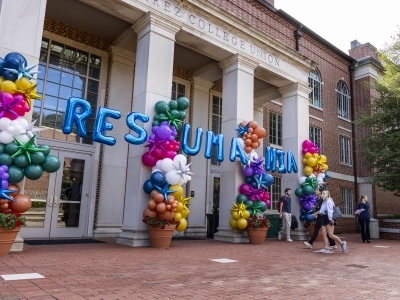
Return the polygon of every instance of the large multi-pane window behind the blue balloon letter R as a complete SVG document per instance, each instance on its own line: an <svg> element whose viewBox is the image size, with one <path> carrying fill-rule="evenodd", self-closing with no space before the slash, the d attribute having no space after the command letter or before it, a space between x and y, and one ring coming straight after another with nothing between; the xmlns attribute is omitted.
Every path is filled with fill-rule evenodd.
<svg viewBox="0 0 400 300"><path fill-rule="evenodd" d="M100 89L101 58L88 52L43 38L40 49L37 92L43 99L35 100L33 119L48 128L41 137L93 144L92 133ZM69 135L61 131L67 101L70 97L86 99L92 115L86 120L87 136L80 138L76 126Z"/></svg>

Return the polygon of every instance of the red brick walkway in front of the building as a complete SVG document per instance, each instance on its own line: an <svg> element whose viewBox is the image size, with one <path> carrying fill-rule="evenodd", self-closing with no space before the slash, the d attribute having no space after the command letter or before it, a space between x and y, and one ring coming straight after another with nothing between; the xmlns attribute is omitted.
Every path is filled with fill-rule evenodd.
<svg viewBox="0 0 400 300"><path fill-rule="evenodd" d="M170 249L115 244L25 245L0 258L0 299L399 299L400 243L341 234L348 252L315 253L300 241L260 246L173 241ZM377 247L380 246L380 247ZM229 258L236 263L210 259Z"/></svg>

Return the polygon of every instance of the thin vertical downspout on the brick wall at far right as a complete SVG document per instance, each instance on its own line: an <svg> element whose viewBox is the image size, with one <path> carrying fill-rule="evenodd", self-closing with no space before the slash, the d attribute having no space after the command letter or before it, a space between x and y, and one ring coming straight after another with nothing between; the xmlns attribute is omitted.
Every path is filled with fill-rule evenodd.
<svg viewBox="0 0 400 300"><path fill-rule="evenodd" d="M350 97L351 97L351 139L352 139L352 148L353 148L353 172L354 172L354 196L355 196L355 201L354 201L354 210L357 206L358 202L358 182L357 182L357 151L356 151L356 125L355 125L355 98L354 98L354 92L353 92L353 74L355 70L355 63L352 63L349 65L349 71L350 71ZM356 232L360 232L360 226L358 223L358 218L356 216Z"/></svg>

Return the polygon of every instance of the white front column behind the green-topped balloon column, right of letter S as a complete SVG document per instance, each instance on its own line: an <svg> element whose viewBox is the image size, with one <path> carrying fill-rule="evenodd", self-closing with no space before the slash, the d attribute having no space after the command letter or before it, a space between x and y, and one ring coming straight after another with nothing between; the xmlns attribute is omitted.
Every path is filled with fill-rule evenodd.
<svg viewBox="0 0 400 300"><path fill-rule="evenodd" d="M151 133L154 104L171 98L175 34L179 27L171 20L164 20L147 13L136 22L138 34L135 83L132 111L149 116L144 128ZM128 174L125 192L124 221L117 243L129 246L149 245L143 210L149 196L143 192L143 183L150 178L151 169L142 164L143 145L129 145Z"/></svg>

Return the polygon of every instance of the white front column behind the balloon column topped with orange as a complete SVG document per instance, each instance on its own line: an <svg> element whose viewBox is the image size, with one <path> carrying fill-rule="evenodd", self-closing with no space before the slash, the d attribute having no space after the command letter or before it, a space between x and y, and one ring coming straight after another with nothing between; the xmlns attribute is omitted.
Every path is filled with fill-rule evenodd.
<svg viewBox="0 0 400 300"><path fill-rule="evenodd" d="M234 55L220 63L222 81L222 134L225 138L224 161L221 164L219 200L219 227L214 239L227 242L247 242L244 230L229 226L232 202L236 201L239 186L244 182L240 162L229 160L232 137L237 137L237 125L253 120L254 69L257 63L249 58Z"/></svg>

